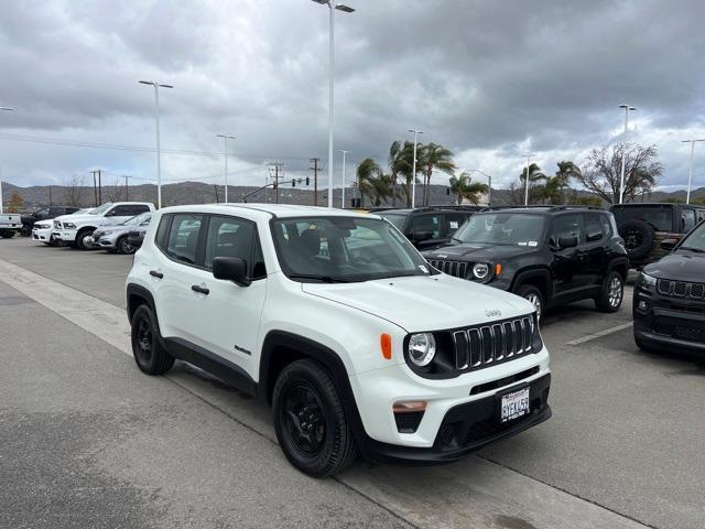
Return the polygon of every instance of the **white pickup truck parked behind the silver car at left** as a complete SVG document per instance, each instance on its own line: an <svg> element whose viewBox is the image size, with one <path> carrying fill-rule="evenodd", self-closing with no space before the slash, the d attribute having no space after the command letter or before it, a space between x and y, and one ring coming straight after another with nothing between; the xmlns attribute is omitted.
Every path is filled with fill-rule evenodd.
<svg viewBox="0 0 705 529"><path fill-rule="evenodd" d="M80 250L93 247L93 233L100 226L120 224L145 212L153 212L151 202L108 202L85 215L62 215L54 219L52 237L64 246Z"/></svg>

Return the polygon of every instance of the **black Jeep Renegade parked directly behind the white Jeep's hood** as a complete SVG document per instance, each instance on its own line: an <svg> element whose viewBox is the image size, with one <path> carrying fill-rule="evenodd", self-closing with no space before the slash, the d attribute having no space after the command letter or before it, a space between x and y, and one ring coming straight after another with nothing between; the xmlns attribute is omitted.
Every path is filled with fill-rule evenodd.
<svg viewBox="0 0 705 529"><path fill-rule="evenodd" d="M627 252L609 212L545 206L478 212L452 245L424 252L442 272L514 292L539 312L594 299L616 312L627 278Z"/></svg>

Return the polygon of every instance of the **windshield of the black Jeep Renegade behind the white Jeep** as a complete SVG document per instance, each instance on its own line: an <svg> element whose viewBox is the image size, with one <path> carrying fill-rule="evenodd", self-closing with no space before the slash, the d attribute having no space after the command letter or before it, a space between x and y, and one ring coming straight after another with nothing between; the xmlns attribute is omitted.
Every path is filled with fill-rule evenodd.
<svg viewBox="0 0 705 529"><path fill-rule="evenodd" d="M518 213L473 215L453 236L459 242L539 246L545 217Z"/></svg>

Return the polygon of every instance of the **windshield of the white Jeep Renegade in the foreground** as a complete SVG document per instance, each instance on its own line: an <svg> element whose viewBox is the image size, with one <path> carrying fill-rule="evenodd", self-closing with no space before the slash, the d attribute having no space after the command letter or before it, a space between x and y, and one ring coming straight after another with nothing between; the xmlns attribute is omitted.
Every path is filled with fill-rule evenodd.
<svg viewBox="0 0 705 529"><path fill-rule="evenodd" d="M352 282L430 276L426 261L389 223L360 217L272 222L280 264L294 280Z"/></svg>

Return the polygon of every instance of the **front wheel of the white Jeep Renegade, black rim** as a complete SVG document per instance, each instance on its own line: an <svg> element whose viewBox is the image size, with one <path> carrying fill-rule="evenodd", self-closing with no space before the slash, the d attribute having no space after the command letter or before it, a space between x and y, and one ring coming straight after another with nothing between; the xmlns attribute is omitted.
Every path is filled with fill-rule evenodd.
<svg viewBox="0 0 705 529"><path fill-rule="evenodd" d="M288 365L274 385L276 439L289 462L325 477L345 471L357 455L355 439L330 376L313 360Z"/></svg>

